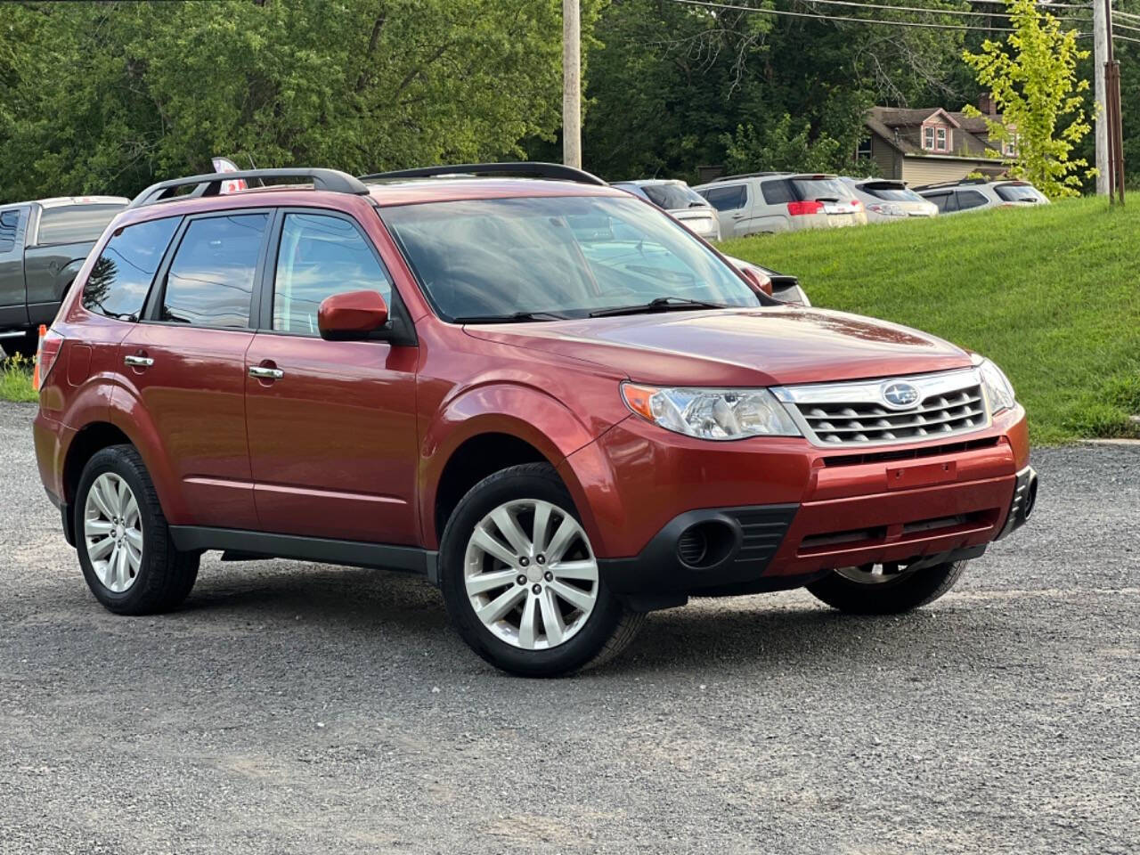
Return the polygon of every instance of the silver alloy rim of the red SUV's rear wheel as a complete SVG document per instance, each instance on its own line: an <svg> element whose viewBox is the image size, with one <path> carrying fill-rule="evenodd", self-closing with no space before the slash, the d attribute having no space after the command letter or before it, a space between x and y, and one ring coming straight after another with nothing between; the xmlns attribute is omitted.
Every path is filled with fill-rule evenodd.
<svg viewBox="0 0 1140 855"><path fill-rule="evenodd" d="M91 568L111 592L122 594L142 567L142 520L127 481L104 472L83 504L83 539Z"/></svg>

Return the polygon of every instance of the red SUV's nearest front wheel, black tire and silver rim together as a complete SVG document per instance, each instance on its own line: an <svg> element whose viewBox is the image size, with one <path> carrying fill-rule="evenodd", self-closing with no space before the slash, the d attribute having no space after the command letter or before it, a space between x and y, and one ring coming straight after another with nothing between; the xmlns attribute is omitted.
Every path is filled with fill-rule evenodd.
<svg viewBox="0 0 1140 855"><path fill-rule="evenodd" d="M600 665L644 620L605 586L570 494L547 464L475 484L451 514L439 557L459 635L511 674L554 677Z"/></svg>

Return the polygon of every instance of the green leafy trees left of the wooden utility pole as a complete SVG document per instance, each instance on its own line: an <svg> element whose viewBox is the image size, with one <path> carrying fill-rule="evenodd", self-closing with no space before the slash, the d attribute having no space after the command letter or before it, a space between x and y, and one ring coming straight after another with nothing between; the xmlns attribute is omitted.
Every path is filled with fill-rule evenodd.
<svg viewBox="0 0 1140 855"><path fill-rule="evenodd" d="M133 195L210 157L350 172L561 124L560 0L6 5L0 198Z"/></svg>

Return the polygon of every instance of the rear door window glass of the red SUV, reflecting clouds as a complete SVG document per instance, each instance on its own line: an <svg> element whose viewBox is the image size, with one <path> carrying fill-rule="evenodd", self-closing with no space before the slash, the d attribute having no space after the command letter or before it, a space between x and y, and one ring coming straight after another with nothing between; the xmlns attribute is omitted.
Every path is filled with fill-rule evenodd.
<svg viewBox="0 0 1140 855"><path fill-rule="evenodd" d="M160 320L194 326L250 325L267 213L194 220L170 262Z"/></svg>

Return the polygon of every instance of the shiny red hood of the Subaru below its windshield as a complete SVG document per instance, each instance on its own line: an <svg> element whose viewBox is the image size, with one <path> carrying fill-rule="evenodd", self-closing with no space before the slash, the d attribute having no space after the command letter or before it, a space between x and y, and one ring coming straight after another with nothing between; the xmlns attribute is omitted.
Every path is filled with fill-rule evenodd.
<svg viewBox="0 0 1140 855"><path fill-rule="evenodd" d="M467 326L488 341L608 366L630 380L747 386L963 368L970 355L926 333L822 309L763 307Z"/></svg>

